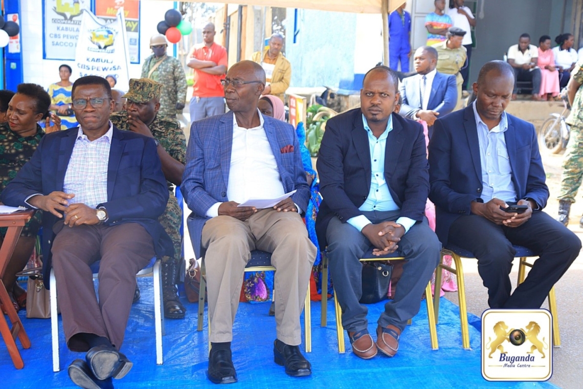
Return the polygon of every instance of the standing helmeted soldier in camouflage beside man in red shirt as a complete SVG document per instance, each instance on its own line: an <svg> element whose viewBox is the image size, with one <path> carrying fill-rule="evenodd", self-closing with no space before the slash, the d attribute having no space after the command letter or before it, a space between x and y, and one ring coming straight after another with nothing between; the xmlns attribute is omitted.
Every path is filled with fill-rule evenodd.
<svg viewBox="0 0 583 389"><path fill-rule="evenodd" d="M186 75L184 67L177 58L168 57L166 37L156 34L150 39L154 54L147 57L142 65L142 78L161 83L160 114L175 119L184 109L186 101Z"/></svg>

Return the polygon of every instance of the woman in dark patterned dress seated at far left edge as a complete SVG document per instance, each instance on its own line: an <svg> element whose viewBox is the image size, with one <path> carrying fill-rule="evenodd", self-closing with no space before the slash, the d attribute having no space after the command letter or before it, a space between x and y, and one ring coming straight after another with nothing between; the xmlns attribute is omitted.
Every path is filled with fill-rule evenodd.
<svg viewBox="0 0 583 389"><path fill-rule="evenodd" d="M16 173L30 160L38 142L44 135L37 124L44 120L48 131L61 127L57 115L50 116L48 109L51 97L43 87L36 84L20 84L16 94L8 103L6 117L8 122L0 124L0 190L16 177ZM50 125L50 120L54 125ZM36 243L36 234L41 225L41 212L38 211L22 229L12 257L8 261L2 282L8 290L13 305L18 311L26 306L26 291L16 282L16 272L22 270L30 258ZM6 227L0 228L0 244L6 234ZM5 311L2 307L2 311Z"/></svg>

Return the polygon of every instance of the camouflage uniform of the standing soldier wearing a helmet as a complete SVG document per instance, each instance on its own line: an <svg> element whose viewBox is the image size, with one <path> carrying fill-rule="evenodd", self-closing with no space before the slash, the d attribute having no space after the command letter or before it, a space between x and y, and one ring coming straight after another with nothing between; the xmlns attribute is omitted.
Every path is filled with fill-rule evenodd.
<svg viewBox="0 0 583 389"><path fill-rule="evenodd" d="M150 69L156 65L160 58L156 58L153 54L147 57L142 65L142 78L150 78L162 84L159 114L168 119L175 119L176 114L179 113L176 110L176 103L186 103L188 85L184 67L180 61L177 58L168 57L168 55L164 55L163 58L158 68L148 77Z"/></svg>

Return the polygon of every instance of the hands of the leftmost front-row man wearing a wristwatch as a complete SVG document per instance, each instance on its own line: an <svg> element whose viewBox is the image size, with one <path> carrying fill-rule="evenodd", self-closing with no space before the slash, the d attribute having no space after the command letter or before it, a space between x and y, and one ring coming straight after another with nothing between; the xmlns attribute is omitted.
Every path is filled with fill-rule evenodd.
<svg viewBox="0 0 583 389"><path fill-rule="evenodd" d="M65 226L74 227L83 224L95 225L99 223L97 212L94 208L82 203L69 205L69 200L75 197L75 194L66 194L61 191L54 191L50 194L36 195L29 199L29 204L45 212L51 212L57 218L62 219L61 211L65 215Z"/></svg>

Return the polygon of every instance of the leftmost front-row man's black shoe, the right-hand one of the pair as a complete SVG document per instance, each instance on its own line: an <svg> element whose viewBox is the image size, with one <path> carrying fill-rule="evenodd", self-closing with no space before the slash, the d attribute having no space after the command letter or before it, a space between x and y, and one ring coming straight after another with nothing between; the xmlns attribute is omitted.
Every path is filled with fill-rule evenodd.
<svg viewBox="0 0 583 389"><path fill-rule="evenodd" d="M85 360L98 380L122 379L134 366L124 354L110 346L93 347L87 351Z"/></svg>

